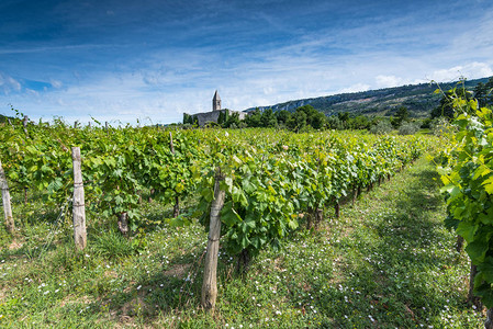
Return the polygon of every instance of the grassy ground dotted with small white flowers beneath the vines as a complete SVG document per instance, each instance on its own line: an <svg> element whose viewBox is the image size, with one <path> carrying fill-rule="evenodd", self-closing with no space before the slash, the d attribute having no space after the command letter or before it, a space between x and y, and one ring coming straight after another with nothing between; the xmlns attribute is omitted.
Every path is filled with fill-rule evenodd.
<svg viewBox="0 0 493 329"><path fill-rule="evenodd" d="M159 220L170 209L146 203L150 225L138 239L89 218L78 254L69 219L14 200L19 234L0 228L0 327L480 328L436 178L417 161L344 205L339 219L327 212L282 252L262 252L244 276L221 254L213 316L200 308L206 236L198 224L169 227Z"/></svg>

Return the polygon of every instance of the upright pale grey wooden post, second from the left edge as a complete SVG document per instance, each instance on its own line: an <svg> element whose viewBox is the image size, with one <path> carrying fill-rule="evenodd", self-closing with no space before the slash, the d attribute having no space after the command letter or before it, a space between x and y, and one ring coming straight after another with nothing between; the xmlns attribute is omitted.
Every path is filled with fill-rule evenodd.
<svg viewBox="0 0 493 329"><path fill-rule="evenodd" d="M87 245L87 232L86 232L86 206L83 198L83 182L82 182L82 170L81 170L81 158L80 148L71 148L71 158L74 163L74 202L72 202L72 214L74 214L74 240L76 242L76 248L82 250Z"/></svg>

